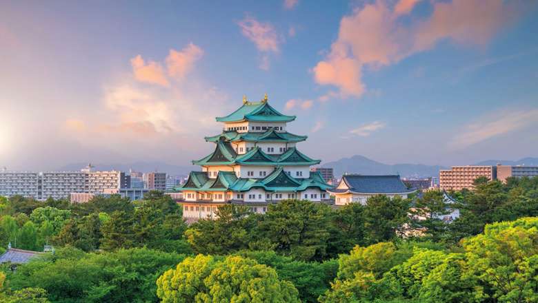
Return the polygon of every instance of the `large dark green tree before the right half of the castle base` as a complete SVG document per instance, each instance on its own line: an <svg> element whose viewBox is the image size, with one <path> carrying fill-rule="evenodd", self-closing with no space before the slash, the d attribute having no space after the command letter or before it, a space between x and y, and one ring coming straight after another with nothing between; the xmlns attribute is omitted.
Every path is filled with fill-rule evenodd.
<svg viewBox="0 0 538 303"><path fill-rule="evenodd" d="M258 242L266 243L264 246L297 260L323 260L327 255L330 218L328 205L283 200L270 205L260 217L255 236Z"/></svg>

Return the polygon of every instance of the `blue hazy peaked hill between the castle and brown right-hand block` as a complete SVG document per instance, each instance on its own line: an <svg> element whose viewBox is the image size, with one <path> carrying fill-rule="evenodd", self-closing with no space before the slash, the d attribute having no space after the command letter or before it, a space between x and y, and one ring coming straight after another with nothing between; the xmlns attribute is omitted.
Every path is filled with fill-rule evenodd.
<svg viewBox="0 0 538 303"><path fill-rule="evenodd" d="M321 167L332 167L335 169L335 176L339 177L344 173L355 174L399 174L402 177L430 177L438 176L439 169L446 169L440 165L423 165L423 164L395 164L389 165L366 158L365 156L352 156L351 158L342 158L334 162L328 162Z"/></svg>

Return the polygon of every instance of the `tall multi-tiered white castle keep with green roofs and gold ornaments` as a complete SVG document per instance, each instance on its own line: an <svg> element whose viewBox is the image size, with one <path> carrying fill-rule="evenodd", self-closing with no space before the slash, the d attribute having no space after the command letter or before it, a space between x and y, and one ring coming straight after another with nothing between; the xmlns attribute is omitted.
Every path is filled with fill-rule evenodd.
<svg viewBox="0 0 538 303"><path fill-rule="evenodd" d="M201 171L192 171L183 193L183 217L215 218L220 205L247 205L264 213L279 200L299 198L328 199L330 187L317 171L310 171L314 160L297 149L306 136L290 134L286 116L271 107L267 95L260 102L243 97L243 105L228 116L217 117L223 132L206 137L215 151L192 161Z"/></svg>

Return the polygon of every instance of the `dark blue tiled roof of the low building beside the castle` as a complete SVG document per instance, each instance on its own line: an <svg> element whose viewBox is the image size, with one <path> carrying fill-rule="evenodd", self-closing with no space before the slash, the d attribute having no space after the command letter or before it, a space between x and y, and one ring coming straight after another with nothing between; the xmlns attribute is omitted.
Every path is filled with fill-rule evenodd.
<svg viewBox="0 0 538 303"><path fill-rule="evenodd" d="M338 187L341 188L328 191L333 194L408 194L415 191L408 189L399 175L343 175Z"/></svg>

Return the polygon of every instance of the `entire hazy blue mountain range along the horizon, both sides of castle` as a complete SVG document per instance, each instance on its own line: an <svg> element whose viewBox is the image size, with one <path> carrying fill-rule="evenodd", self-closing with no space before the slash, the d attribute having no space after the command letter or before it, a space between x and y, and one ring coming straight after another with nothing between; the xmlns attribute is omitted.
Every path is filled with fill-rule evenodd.
<svg viewBox="0 0 538 303"><path fill-rule="evenodd" d="M475 165L537 165L538 158L522 158L520 160L484 160ZM78 171L86 167L88 163L72 163L64 167L60 167L60 171ZM193 165L170 165L159 161L153 162L135 162L135 163L92 163L95 170L112 170L119 171L163 171L172 176L187 176L192 170L200 170L199 167ZM324 163L321 167L332 167L335 169L335 176L339 177L344 173L349 174L399 174L402 177L430 177L438 176L439 169L448 169L441 165L424 165L424 164L385 164L365 156L355 155L350 158L341 158L340 160Z"/></svg>

